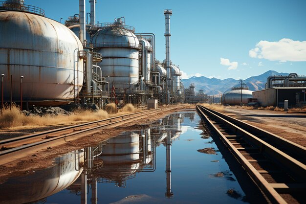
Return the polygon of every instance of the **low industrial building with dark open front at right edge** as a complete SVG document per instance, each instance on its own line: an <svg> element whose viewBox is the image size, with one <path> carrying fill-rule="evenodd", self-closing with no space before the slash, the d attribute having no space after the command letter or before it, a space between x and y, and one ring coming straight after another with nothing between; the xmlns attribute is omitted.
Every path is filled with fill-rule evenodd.
<svg viewBox="0 0 306 204"><path fill-rule="evenodd" d="M289 107L303 107L305 101L306 77L296 73L288 76L269 76L266 89L254 91L253 98L257 98L260 106L284 107L288 100Z"/></svg>

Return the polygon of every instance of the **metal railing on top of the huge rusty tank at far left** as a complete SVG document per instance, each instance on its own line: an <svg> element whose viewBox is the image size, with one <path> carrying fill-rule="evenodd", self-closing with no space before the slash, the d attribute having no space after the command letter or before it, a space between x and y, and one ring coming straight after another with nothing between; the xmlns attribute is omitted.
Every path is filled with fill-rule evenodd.
<svg viewBox="0 0 306 204"><path fill-rule="evenodd" d="M0 10L24 11L45 16L44 10L39 7L20 3L9 3L6 1L0 1Z"/></svg>

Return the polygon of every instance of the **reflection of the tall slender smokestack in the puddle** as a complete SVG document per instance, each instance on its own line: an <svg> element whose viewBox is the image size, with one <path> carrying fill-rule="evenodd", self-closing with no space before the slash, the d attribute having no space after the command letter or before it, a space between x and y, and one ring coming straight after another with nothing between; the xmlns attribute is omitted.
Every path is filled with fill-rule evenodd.
<svg viewBox="0 0 306 204"><path fill-rule="evenodd" d="M167 191L165 193L166 198L173 198L173 192L171 192L171 133L167 135L167 147L166 147L166 174L167 174Z"/></svg>

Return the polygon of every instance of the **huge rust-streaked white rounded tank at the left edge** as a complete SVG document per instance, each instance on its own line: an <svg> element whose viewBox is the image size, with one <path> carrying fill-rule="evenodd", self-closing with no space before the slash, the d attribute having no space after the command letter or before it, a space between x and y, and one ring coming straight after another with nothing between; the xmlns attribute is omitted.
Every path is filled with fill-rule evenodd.
<svg viewBox="0 0 306 204"><path fill-rule="evenodd" d="M13 77L13 101L40 105L61 105L76 94L79 77L83 84L83 63L78 50L83 46L65 25L44 16L0 11L0 74L4 76L4 100L10 100L10 75ZM78 73L79 72L79 73Z"/></svg>

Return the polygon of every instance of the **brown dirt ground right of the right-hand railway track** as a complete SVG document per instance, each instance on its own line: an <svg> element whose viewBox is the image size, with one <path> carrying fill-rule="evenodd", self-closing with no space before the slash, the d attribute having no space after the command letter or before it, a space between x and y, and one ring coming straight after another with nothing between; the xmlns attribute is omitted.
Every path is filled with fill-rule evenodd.
<svg viewBox="0 0 306 204"><path fill-rule="evenodd" d="M224 113L306 147L306 113L248 110L228 106Z"/></svg>

